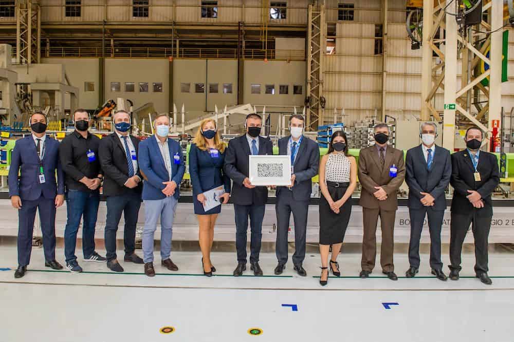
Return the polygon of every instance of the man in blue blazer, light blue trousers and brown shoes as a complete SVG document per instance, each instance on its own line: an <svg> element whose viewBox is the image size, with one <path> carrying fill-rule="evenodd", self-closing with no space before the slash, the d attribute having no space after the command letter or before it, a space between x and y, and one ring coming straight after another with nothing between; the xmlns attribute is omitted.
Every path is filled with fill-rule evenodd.
<svg viewBox="0 0 514 342"><path fill-rule="evenodd" d="M143 261L144 273L155 276L154 234L157 220L161 222L161 265L178 271L170 259L173 217L175 215L179 186L186 170L180 144L168 139L170 117L158 115L154 121L155 136L139 144L139 168L143 175Z"/></svg>

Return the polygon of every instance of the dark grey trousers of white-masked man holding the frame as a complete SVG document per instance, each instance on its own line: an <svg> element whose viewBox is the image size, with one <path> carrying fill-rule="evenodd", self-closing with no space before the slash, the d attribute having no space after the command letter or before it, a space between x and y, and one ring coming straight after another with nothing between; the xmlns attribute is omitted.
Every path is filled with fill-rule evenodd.
<svg viewBox="0 0 514 342"><path fill-rule="evenodd" d="M287 262L287 235L289 233L289 219L295 221L295 254L292 255L293 264L302 264L305 259L305 239L307 232L307 214L309 201L295 201L292 191L281 189L275 204L277 211L277 243L275 251L277 260L281 264Z"/></svg>

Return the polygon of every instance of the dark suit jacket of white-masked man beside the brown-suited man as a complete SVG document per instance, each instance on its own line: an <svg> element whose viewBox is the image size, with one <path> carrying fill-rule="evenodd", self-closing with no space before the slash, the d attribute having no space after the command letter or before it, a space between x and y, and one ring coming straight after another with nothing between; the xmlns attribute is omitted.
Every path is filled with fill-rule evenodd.
<svg viewBox="0 0 514 342"><path fill-rule="evenodd" d="M451 177L450 151L443 147L434 147L430 170L421 145L407 151L405 181L409 185L408 206L411 209L424 207L420 200L425 196L421 195L421 192L429 193L435 199L432 206L434 210L446 209L445 189Z"/></svg>

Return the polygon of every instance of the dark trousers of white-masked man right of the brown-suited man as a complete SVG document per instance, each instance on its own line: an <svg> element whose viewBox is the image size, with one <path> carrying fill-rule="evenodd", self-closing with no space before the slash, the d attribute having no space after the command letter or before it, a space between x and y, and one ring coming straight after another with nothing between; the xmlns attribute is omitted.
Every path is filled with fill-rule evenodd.
<svg viewBox="0 0 514 342"><path fill-rule="evenodd" d="M444 210L433 210L425 206L420 209L409 209L411 220L411 239L409 241L409 263L411 267L419 268L419 240L423 231L425 215L428 217L430 231L430 267L443 270L441 261L441 227L445 216Z"/></svg>

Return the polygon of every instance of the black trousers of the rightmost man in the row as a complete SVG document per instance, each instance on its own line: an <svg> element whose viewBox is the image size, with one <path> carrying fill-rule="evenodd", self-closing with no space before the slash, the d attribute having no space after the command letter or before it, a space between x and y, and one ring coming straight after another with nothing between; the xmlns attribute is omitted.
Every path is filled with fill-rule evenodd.
<svg viewBox="0 0 514 342"><path fill-rule="evenodd" d="M478 217L476 210L468 214L454 214L451 213L450 223L450 269L460 271L461 268L461 253L464 238L468 232L469 225L472 224L471 230L473 231L473 238L475 240L475 273L481 274L488 272L488 253L487 245L489 238L489 231L491 229L492 217Z"/></svg>

